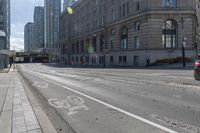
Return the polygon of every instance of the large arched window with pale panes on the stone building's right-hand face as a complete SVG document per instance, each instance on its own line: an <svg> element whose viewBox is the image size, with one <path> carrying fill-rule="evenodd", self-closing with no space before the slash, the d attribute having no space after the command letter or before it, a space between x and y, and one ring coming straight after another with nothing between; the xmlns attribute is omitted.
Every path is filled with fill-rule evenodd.
<svg viewBox="0 0 200 133"><path fill-rule="evenodd" d="M164 48L175 48L177 43L177 23L166 20L163 24L162 45Z"/></svg>

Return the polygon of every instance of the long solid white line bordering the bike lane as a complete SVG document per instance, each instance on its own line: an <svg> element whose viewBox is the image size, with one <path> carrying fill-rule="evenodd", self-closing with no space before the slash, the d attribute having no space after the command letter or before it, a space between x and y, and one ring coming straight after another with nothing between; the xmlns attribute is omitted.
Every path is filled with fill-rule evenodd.
<svg viewBox="0 0 200 133"><path fill-rule="evenodd" d="M29 71L30 71L30 70L29 70ZM69 88L69 87L67 87L67 86L61 85L61 84L56 83L56 82L54 82L54 81L51 81L51 80L42 78L41 76L36 75L36 74L35 74L34 72L32 72L32 71L30 71L30 72L31 72L32 74L34 74L34 76L37 76L37 77L39 77L39 78L41 78L41 79L43 79L43 80L45 80L45 81L47 81L47 82L53 83L53 84L55 84L55 85L58 85L58 86L60 86L60 87L65 88L65 89L67 89L67 90L69 90L69 91L72 91L72 92L75 92L75 93L77 93L77 94L79 94L79 95L82 95L82 96L84 96L84 97L87 97L88 99L91 99L91 100L93 100L93 101L96 101L97 103L100 103L100 104L105 105L105 106L107 106L107 107L113 108L113 109L115 109L115 110L117 110L117 111L119 111L119 112L121 112L121 113L123 113L123 114L126 114L126 115L128 115L128 116L130 116L130 117L132 117L132 118L135 118L135 119L137 119L137 120L140 120L140 121L142 121L142 122L144 122L144 123L146 123L146 124L149 124L149 125L151 125L151 126L154 126L154 127L158 128L158 129L161 129L161 130L166 131L166 132L168 132L168 133L178 133L178 132L176 132L176 131L174 131L174 130L172 130L172 129L169 129L169 128L167 128L167 127L164 127L164 126L162 126L162 125L159 125L159 124L157 124L157 123L154 123L154 122L152 122L152 121L150 121L150 120L147 120L147 119L142 118L142 117L140 117L140 116L138 116L138 115L135 115L135 114L133 114L133 113L130 113L130 112L128 112L128 111L125 111L125 110L123 110L123 109L120 109L120 108L118 108L118 107L116 107L116 106L113 106L113 105L111 105L111 104L105 103L105 102L103 102L103 101L101 101L101 100L98 100L98 99L96 99L96 98L94 98L94 97L91 97L91 96L89 96L89 95L87 95L87 94L84 94L84 93L82 93L82 92L76 91L76 90L74 90L74 89L71 89L71 88Z"/></svg>

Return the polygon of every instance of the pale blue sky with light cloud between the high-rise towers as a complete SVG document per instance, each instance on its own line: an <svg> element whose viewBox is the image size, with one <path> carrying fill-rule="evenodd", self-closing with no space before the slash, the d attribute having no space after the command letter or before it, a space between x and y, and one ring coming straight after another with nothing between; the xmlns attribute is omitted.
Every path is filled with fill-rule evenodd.
<svg viewBox="0 0 200 133"><path fill-rule="evenodd" d="M24 49L24 26L33 22L35 6L43 6L44 0L10 0L11 2L11 49Z"/></svg>

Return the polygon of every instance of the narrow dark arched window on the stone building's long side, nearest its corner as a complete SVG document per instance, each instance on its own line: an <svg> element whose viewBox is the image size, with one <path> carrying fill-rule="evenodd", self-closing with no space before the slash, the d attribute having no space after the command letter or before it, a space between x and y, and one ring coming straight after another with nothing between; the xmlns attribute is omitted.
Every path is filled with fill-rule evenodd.
<svg viewBox="0 0 200 133"><path fill-rule="evenodd" d="M122 50L128 49L128 28L123 27L121 30L120 48Z"/></svg>

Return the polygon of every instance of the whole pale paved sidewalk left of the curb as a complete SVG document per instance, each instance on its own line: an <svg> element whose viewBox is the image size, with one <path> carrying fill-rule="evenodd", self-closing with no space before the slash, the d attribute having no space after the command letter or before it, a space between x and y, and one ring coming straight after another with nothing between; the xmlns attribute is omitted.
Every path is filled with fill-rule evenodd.
<svg viewBox="0 0 200 133"><path fill-rule="evenodd" d="M0 73L0 132L44 133L41 127L17 71Z"/></svg>

